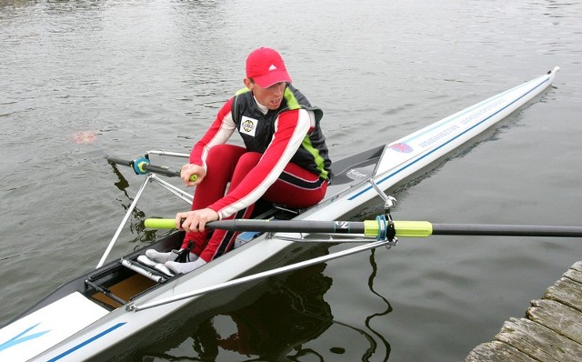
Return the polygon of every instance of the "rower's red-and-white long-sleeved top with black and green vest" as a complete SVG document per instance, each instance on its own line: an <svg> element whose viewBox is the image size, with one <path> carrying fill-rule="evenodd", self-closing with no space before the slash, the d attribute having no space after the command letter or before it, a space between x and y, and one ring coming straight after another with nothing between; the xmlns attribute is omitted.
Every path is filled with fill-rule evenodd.
<svg viewBox="0 0 582 362"><path fill-rule="evenodd" d="M190 163L207 169L210 148L226 143L235 130L249 151L263 156L236 190L208 207L224 218L252 205L289 162L328 180L331 161L319 126L322 116L321 109L311 106L292 85L286 85L283 101L276 110L260 106L247 88L237 92L192 149Z"/></svg>

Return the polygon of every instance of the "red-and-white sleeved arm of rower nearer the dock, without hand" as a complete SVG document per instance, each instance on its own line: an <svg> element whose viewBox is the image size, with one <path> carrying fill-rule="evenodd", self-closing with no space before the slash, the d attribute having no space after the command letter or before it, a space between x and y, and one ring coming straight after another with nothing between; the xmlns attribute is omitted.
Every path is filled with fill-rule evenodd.
<svg viewBox="0 0 582 362"><path fill-rule="evenodd" d="M230 190L228 195L208 207L215 210L220 218L224 218L255 203L275 183L295 156L311 126L311 116L304 109L286 111L279 115L276 132L259 163L236 189Z"/></svg>

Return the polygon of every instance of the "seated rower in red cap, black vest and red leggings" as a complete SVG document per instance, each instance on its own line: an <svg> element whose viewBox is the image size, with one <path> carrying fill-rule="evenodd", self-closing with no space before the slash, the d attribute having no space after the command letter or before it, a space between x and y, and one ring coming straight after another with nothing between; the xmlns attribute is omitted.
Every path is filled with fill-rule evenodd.
<svg viewBox="0 0 582 362"><path fill-rule="evenodd" d="M210 235L206 223L250 218L261 197L305 208L326 196L331 160L320 126L323 111L291 85L286 64L274 49L261 47L247 56L244 84L222 106L181 169L185 185L196 186L192 211L176 215L176 226L186 231L182 248L191 241L195 245L186 262L146 251L176 274L204 266L235 245L237 232L215 230ZM235 131L244 147L226 144Z"/></svg>

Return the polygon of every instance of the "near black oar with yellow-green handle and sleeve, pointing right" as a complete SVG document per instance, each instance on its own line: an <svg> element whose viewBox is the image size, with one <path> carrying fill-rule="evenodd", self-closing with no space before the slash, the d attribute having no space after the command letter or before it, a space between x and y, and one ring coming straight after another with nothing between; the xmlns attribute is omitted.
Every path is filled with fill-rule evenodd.
<svg viewBox="0 0 582 362"><path fill-rule="evenodd" d="M365 221L318 221L318 220L255 220L232 219L213 221L206 226L215 229L256 232L364 234L378 237L386 229L384 218ZM176 228L174 219L149 218L149 228ZM582 226L532 226L532 225L482 225L482 224L433 224L428 221L394 221L396 236L426 237L431 235L467 236L555 236L582 237Z"/></svg>

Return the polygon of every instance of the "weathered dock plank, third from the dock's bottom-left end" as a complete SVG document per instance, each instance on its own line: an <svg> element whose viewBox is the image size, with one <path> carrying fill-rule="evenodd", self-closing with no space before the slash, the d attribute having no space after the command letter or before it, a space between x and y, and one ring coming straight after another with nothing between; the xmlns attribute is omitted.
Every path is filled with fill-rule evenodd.
<svg viewBox="0 0 582 362"><path fill-rule="evenodd" d="M526 316L559 335L582 343L582 315L574 308L554 300L535 300L527 309Z"/></svg>

